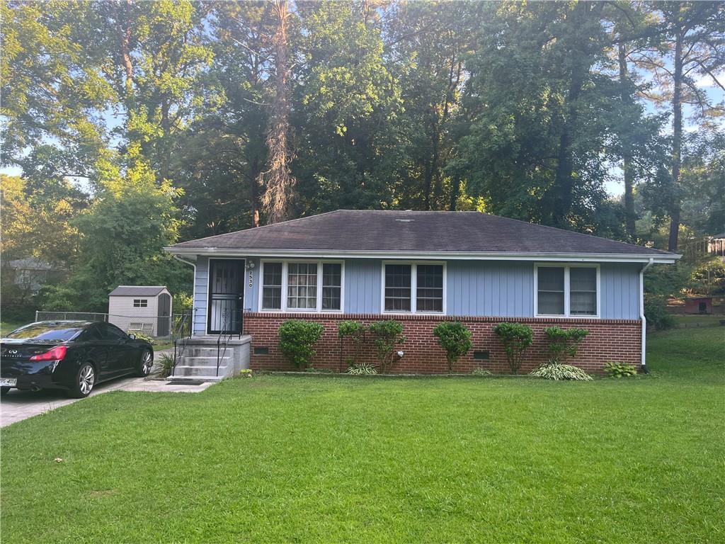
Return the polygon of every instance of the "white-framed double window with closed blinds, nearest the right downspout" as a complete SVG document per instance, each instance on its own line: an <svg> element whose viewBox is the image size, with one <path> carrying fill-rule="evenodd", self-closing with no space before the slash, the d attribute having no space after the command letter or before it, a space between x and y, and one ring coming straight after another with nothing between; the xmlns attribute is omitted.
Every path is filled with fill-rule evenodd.
<svg viewBox="0 0 725 544"><path fill-rule="evenodd" d="M598 318L599 265L534 265L534 313L536 316Z"/></svg>

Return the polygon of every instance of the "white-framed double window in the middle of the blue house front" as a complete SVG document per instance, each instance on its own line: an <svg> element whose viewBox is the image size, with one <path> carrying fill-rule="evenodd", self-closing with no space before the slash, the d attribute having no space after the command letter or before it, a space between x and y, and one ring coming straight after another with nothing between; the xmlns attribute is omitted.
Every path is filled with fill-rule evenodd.
<svg viewBox="0 0 725 544"><path fill-rule="evenodd" d="M446 264L384 262L383 313L445 313Z"/></svg>

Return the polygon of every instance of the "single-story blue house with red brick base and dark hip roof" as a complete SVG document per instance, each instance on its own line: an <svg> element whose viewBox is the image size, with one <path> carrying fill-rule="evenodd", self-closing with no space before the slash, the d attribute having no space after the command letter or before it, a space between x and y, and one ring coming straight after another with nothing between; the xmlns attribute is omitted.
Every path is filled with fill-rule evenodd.
<svg viewBox="0 0 725 544"><path fill-rule="evenodd" d="M290 368L278 328L307 319L325 326L313 365L337 369L350 355L341 350L340 321L396 319L406 337L393 367L399 372L447 371L432 333L440 321L473 331L473 350L458 371L505 370L492 333L502 321L534 329L526 368L545 360L542 331L553 325L589 329L576 360L589 371L610 360L644 364L642 274L679 258L477 212L373 210L337 210L166 249L194 265L199 342L225 329L244 332L252 368ZM367 345L363 358L373 358L369 338Z"/></svg>

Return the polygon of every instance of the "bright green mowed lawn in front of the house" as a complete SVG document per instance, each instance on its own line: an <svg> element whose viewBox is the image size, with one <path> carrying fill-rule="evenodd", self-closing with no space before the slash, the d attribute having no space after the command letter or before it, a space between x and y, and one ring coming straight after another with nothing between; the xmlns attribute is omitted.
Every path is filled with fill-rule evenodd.
<svg viewBox="0 0 725 544"><path fill-rule="evenodd" d="M654 376L257 376L2 431L12 543L720 543L725 329ZM54 459L61 458L61 462Z"/></svg>

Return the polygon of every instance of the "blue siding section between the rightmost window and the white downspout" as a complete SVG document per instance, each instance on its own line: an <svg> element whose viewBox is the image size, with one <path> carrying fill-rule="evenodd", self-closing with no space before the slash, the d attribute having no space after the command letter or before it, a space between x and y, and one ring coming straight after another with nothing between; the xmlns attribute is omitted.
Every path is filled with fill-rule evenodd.
<svg viewBox="0 0 725 544"><path fill-rule="evenodd" d="M639 271L636 263L602 263L600 302L604 319L639 319Z"/></svg>

